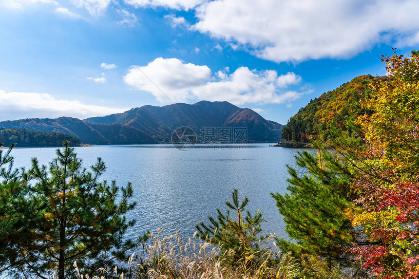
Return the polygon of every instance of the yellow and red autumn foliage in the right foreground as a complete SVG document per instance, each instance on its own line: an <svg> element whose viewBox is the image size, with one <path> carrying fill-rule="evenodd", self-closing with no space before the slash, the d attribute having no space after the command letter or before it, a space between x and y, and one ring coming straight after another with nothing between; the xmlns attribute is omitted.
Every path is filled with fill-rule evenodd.
<svg viewBox="0 0 419 279"><path fill-rule="evenodd" d="M353 182L359 205L352 224L368 245L352 252L379 278L419 277L419 53L382 56L387 76L374 82L358 126L365 149Z"/></svg>

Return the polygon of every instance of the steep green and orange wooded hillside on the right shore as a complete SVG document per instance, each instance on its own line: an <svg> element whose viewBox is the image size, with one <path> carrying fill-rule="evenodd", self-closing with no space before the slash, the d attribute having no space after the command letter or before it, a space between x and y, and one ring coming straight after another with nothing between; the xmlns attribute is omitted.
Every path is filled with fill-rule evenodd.
<svg viewBox="0 0 419 279"><path fill-rule="evenodd" d="M305 142L307 135L316 133L319 128L326 134L331 125L345 129L345 118L361 113L358 101L373 79L371 75L357 76L335 90L311 100L289 119L282 131L282 138Z"/></svg>

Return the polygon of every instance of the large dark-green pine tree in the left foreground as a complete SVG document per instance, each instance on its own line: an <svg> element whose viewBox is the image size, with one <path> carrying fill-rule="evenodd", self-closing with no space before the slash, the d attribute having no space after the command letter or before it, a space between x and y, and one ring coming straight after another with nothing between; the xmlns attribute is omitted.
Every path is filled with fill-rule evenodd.
<svg viewBox="0 0 419 279"><path fill-rule="evenodd" d="M15 171L13 179L2 182L1 191L20 185L0 207L0 243L8 247L1 251L2 259L20 276L47 278L48 272L57 270L57 278L64 279L73 274L75 260L92 272L126 259L125 252L135 245L124 239L134 224L124 216L135 205L129 202L133 188L128 184L119 192L115 181L100 182L106 170L100 158L91 170L82 167L74 149L64 144L49 167L34 158L28 172ZM3 179L7 176L2 171ZM12 212L13 207L18 210ZM13 230L25 238L17 239Z"/></svg>

